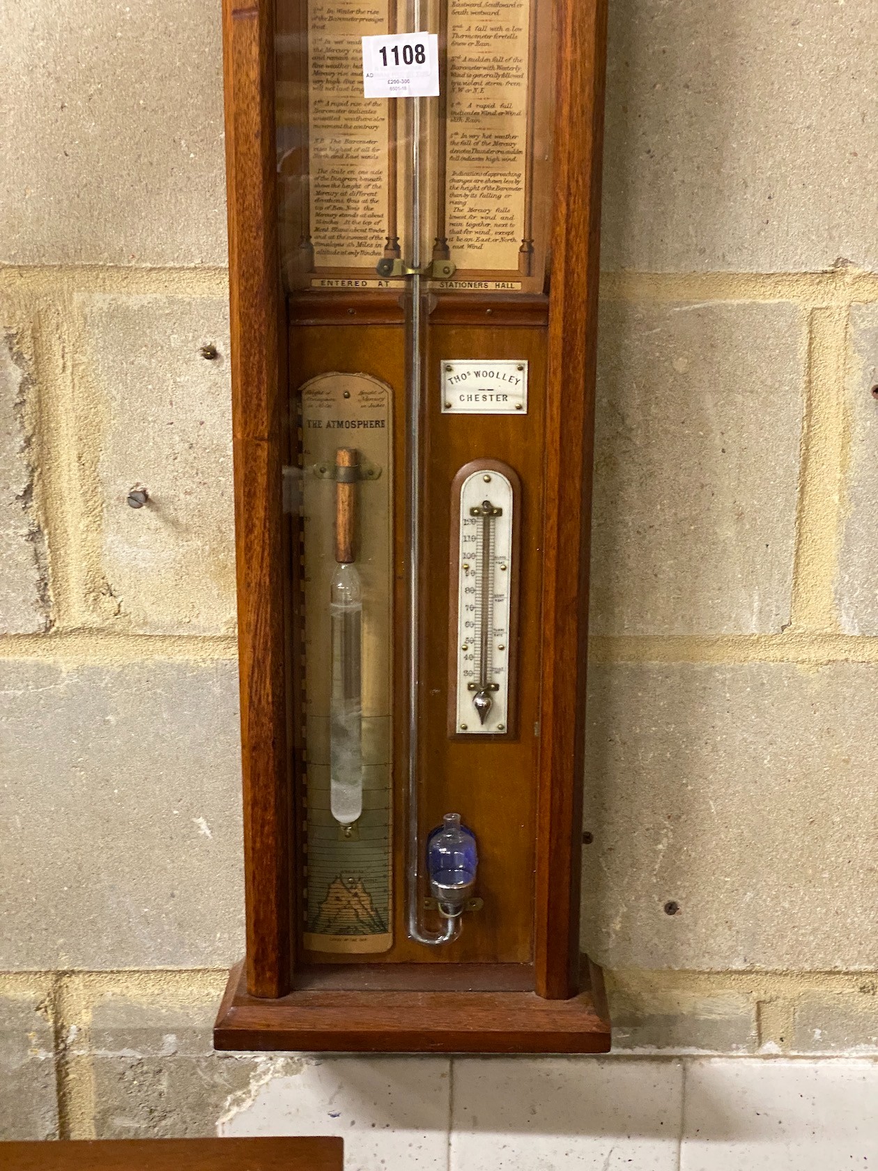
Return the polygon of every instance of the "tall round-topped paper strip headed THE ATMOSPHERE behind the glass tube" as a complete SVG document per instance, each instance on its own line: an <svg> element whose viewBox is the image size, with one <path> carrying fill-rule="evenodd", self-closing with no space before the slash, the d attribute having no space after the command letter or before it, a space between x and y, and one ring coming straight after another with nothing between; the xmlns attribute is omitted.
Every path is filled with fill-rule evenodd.
<svg viewBox="0 0 878 1171"><path fill-rule="evenodd" d="M348 397L345 397L345 395ZM390 949L391 890L391 391L376 378L325 374L301 389L304 529L307 860L304 946ZM330 812L330 577L335 481L318 468L354 447L379 471L357 487L357 568L363 586L363 813L345 837Z"/></svg>

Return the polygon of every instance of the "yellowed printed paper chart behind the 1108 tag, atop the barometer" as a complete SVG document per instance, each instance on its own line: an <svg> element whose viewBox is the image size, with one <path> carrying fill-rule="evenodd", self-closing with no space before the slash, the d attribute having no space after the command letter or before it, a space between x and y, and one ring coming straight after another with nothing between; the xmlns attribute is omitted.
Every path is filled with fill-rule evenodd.
<svg viewBox="0 0 878 1171"><path fill-rule="evenodd" d="M438 35L439 96L365 98L362 37L416 25ZM447 279L437 274L437 288L542 292L550 30L550 0L280 0L277 150L288 288L402 288L376 265L411 259L417 104L420 251L454 266Z"/></svg>

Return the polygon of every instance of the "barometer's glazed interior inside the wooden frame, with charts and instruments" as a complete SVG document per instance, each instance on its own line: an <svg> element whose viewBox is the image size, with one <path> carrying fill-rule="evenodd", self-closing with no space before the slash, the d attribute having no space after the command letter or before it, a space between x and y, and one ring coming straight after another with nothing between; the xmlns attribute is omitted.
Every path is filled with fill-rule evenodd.
<svg viewBox="0 0 878 1171"><path fill-rule="evenodd" d="M553 4L277 13L303 946L527 964Z"/></svg>

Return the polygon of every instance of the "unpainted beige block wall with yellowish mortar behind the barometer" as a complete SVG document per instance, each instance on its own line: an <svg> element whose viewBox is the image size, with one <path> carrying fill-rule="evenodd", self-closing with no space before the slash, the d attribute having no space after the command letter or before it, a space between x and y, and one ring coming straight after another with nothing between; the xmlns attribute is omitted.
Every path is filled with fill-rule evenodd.
<svg viewBox="0 0 878 1171"><path fill-rule="evenodd" d="M430 1131L400 1087L445 1061L210 1047L243 947L219 0L25 8L0 1136L240 1132L274 1081L308 1129L372 1075ZM873 13L610 14L583 944L620 1055L876 1054Z"/></svg>

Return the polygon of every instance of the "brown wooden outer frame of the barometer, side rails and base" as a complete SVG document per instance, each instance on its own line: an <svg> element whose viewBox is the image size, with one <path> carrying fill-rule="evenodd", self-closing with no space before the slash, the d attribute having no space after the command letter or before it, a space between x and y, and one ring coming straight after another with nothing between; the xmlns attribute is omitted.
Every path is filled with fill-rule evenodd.
<svg viewBox="0 0 878 1171"><path fill-rule="evenodd" d="M553 0L555 141L544 405L540 741L530 965L302 964L299 556L275 164L275 4L224 0L246 958L219 1049L601 1053L599 970L579 954L594 384L606 0ZM350 311L350 310L349 310ZM503 979L496 970L521 968Z"/></svg>

